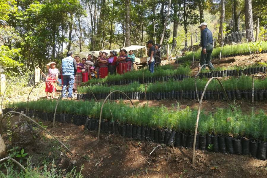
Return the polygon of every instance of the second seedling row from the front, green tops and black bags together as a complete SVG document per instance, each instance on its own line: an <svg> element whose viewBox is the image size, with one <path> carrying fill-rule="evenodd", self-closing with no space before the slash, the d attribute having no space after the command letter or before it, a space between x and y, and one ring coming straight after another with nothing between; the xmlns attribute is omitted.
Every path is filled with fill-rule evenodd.
<svg viewBox="0 0 267 178"><path fill-rule="evenodd" d="M204 87L208 79L197 79L198 96L203 93ZM230 100L235 99L250 99L252 98L252 78L249 76L241 76L239 78L230 77L229 79L222 79L222 84L226 90L227 96ZM197 99L195 80L188 78L183 81L168 81L161 83L150 83L146 86L134 82L130 85L114 85L90 86L97 99L105 99L111 91L120 90L126 93L131 99L147 99L147 100L163 100L163 99ZM255 79L254 82L254 101L263 101L267 99L267 79ZM146 90L146 91L145 91ZM78 88L77 99L92 99L93 95L87 87ZM112 93L110 99L128 99L122 93ZM204 100L226 99L225 93L218 84L213 80L204 95Z"/></svg>

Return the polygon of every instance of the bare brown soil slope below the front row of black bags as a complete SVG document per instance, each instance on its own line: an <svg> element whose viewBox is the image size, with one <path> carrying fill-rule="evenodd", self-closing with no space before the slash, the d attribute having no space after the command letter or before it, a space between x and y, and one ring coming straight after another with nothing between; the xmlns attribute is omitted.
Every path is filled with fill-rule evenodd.
<svg viewBox="0 0 267 178"><path fill-rule="evenodd" d="M12 117L16 120L18 117ZM100 134L97 142L96 131L85 131L84 126L44 122L48 130L58 139L75 150L69 158L66 151L51 136L43 134L39 149L25 150L33 155L32 162L48 169L70 171L74 166L83 165L82 174L89 177L266 177L267 161L250 156L230 155L196 150L195 168L191 165L192 149L158 145L137 141L119 135ZM4 129L5 130L5 129ZM3 135L4 140L6 134ZM8 141L6 141L8 144ZM55 165L52 164L53 159ZM36 165L35 165L36 166Z"/></svg>

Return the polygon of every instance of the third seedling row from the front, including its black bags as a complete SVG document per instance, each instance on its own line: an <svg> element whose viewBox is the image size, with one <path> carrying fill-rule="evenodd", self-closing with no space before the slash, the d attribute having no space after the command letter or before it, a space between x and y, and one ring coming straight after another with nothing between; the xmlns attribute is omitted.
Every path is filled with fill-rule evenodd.
<svg viewBox="0 0 267 178"><path fill-rule="evenodd" d="M223 70L222 70L223 69ZM211 77L229 77L229 76L241 76L257 74L259 72L266 73L266 64L256 64L250 66L234 66L229 68L215 68L214 72L204 70L199 74L199 77L211 78ZM214 75L213 75L214 74ZM87 82L88 85L101 84L101 85L127 85L133 82L139 83L152 83L152 82L164 82L169 80L184 80L191 76L191 70L189 67L180 66L174 69L171 65L159 66L156 68L154 74L151 74L148 70L139 70L127 72L123 75L113 74L108 75L104 79L93 79Z"/></svg>

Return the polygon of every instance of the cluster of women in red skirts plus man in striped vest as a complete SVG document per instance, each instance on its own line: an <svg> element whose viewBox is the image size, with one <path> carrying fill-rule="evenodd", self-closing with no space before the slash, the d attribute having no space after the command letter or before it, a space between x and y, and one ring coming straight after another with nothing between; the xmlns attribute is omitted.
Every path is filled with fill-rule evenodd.
<svg viewBox="0 0 267 178"><path fill-rule="evenodd" d="M80 86L82 82L86 82L90 79L105 78L108 74L123 74L133 69L133 63L135 61L135 55L133 50L127 51L121 49L119 55L115 50L108 53L99 52L99 56L96 60L89 54L86 58L80 58L80 56L74 56L72 58L72 52L67 53L67 57L62 59L61 74L58 69L55 68L56 63L51 62L47 64L48 76L46 82L45 92L47 98L49 93L53 93L52 98L55 96L55 82L58 81L58 76L61 75L62 79L62 98L71 98L72 93L77 90L77 86ZM68 84L72 84L68 87L68 96L66 97L66 87Z"/></svg>

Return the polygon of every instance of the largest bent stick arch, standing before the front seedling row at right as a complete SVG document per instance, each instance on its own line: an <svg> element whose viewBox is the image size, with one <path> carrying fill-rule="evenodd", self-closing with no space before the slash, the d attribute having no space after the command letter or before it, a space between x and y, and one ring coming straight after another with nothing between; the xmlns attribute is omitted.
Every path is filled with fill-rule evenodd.
<svg viewBox="0 0 267 178"><path fill-rule="evenodd" d="M195 166L196 136L197 136L197 131L198 131L198 120L199 120L199 115L200 115L201 103L202 103L204 94L205 94L205 92L206 92L206 89L207 89L209 83L210 83L213 79L216 79L216 80L220 83L220 85L221 85L221 87L222 87L222 89L223 89L223 91L224 91L224 93L225 93L225 96L226 96L226 98L227 98L227 102L228 102L228 104L230 105L229 98L228 98L228 96L227 96L227 94L226 94L226 92L225 92L225 89L224 89L224 87L223 87L223 85L222 85L222 82L219 80L218 77L212 77L212 78L210 78L209 81L207 82L205 88L204 88L204 91L203 91L203 93L202 93L202 95L201 95L201 99L200 99L200 102L199 102L199 105L198 105L198 115L197 115L197 120L196 120L196 128L195 128L195 135L194 135L194 142L193 142L193 155L192 155L192 165L193 165L193 166ZM230 107L231 107L231 105L230 105ZM231 107L231 109L232 109L232 107Z"/></svg>

